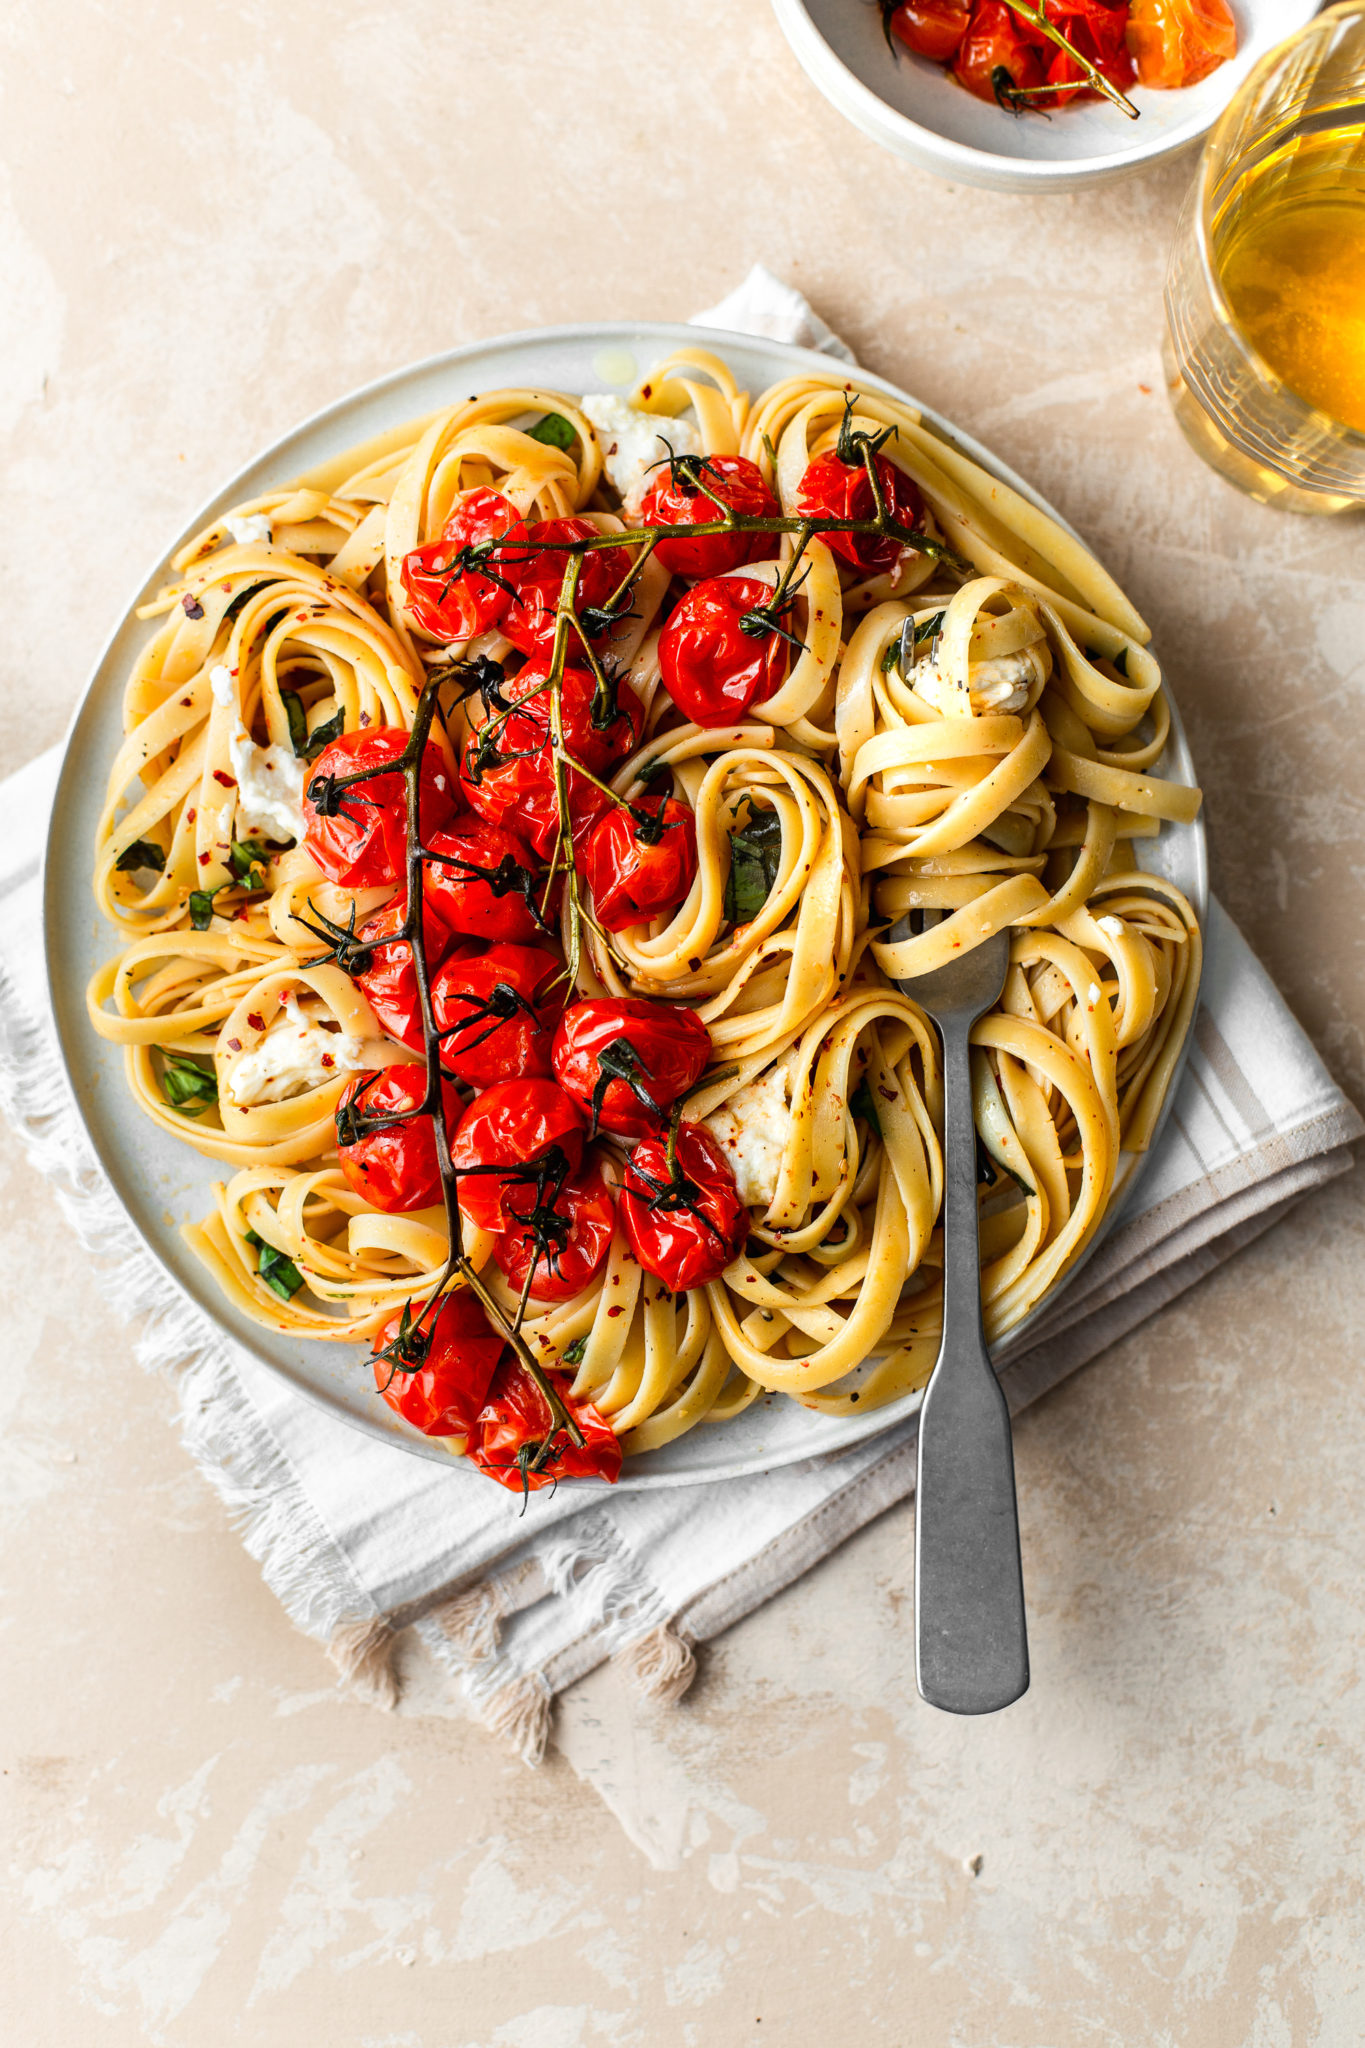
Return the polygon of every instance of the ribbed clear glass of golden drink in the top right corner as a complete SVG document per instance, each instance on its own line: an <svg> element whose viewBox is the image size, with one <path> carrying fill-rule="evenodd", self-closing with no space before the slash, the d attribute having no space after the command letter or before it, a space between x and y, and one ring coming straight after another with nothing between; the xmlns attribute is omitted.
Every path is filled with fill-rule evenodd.
<svg viewBox="0 0 1365 2048"><path fill-rule="evenodd" d="M1164 362L1220 475L1293 512L1365 504L1365 0L1263 57L1209 135Z"/></svg>

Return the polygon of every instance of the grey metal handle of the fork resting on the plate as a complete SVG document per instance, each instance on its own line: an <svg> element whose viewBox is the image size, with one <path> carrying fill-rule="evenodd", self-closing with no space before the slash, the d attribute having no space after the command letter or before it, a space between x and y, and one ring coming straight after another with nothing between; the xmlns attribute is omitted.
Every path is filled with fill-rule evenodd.
<svg viewBox="0 0 1365 2048"><path fill-rule="evenodd" d="M980 1319L970 1026L939 1030L943 1343L919 1411L915 1677L948 1714L995 1714L1029 1683L1015 1456Z"/></svg>

